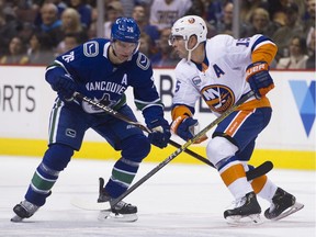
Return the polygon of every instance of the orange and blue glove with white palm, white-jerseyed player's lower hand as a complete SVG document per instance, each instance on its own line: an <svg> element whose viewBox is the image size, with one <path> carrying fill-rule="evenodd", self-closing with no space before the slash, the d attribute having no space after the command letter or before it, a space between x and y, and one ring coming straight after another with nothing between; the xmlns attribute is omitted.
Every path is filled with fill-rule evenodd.
<svg viewBox="0 0 316 237"><path fill-rule="evenodd" d="M199 122L191 116L181 115L172 122L171 131L182 139L189 140L199 132ZM205 139L207 139L206 135L195 140L194 144L200 144Z"/></svg>

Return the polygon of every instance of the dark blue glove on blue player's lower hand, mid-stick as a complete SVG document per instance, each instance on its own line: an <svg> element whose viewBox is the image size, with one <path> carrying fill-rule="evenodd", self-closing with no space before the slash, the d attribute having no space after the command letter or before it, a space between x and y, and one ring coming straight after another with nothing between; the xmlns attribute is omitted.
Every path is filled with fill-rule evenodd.
<svg viewBox="0 0 316 237"><path fill-rule="evenodd" d="M171 136L168 121L165 119L155 120L148 124L148 128L151 129L148 135L150 143L159 148L167 147Z"/></svg>

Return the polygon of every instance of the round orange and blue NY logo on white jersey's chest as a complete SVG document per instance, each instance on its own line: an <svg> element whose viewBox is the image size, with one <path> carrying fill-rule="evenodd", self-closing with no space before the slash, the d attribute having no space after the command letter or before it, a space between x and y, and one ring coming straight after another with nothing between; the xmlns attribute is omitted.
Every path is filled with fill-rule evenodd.
<svg viewBox="0 0 316 237"><path fill-rule="evenodd" d="M223 84L211 84L202 89L201 94L208 108L223 113L235 103L235 97L230 88Z"/></svg>

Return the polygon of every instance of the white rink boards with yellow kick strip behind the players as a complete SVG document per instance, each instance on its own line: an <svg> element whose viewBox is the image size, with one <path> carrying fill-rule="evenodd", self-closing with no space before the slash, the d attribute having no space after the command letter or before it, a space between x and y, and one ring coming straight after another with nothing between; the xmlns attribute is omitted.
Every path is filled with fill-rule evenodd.
<svg viewBox="0 0 316 237"><path fill-rule="evenodd" d="M0 66L0 155L41 157L46 150L48 116L56 94L45 82L44 74L44 67ZM268 128L257 139L251 161L257 165L269 159L279 168L315 170L315 71L271 71L271 75L275 83L275 89L269 94L273 115ZM154 76L166 105L166 117L170 121L173 71L155 69ZM135 109L131 91L127 101ZM136 115L144 123L138 111ZM195 117L201 128L215 120L203 102L196 104ZM212 136L212 131L208 136ZM172 136L172 139L183 144L178 137ZM206 157L205 146L204 142L190 149ZM146 160L162 161L174 150L172 146L163 150L153 147ZM120 153L89 131L75 157L116 159ZM172 162L201 163L185 154Z"/></svg>

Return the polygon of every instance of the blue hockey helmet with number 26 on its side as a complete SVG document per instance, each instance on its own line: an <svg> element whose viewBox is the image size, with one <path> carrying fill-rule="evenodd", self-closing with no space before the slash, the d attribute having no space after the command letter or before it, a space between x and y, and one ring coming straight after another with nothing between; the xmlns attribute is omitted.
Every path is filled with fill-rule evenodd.
<svg viewBox="0 0 316 237"><path fill-rule="evenodd" d="M111 40L128 43L139 43L140 31L132 18L117 18L112 24Z"/></svg>

